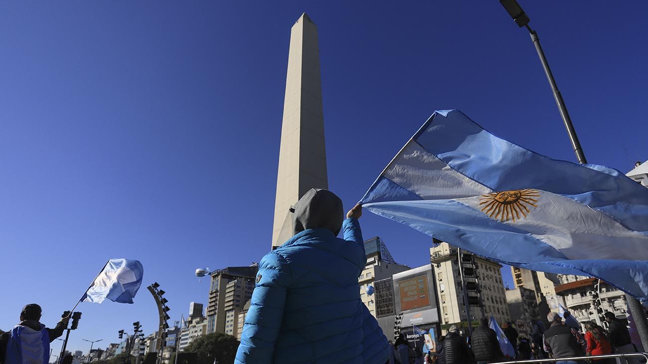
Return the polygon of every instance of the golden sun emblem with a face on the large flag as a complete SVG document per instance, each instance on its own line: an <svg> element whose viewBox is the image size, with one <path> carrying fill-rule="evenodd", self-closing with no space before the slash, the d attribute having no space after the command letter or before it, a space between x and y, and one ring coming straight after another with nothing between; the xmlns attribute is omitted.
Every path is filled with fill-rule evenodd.
<svg viewBox="0 0 648 364"><path fill-rule="evenodd" d="M526 218L529 207L538 207L538 190L511 190L481 195L481 211L501 222Z"/></svg>

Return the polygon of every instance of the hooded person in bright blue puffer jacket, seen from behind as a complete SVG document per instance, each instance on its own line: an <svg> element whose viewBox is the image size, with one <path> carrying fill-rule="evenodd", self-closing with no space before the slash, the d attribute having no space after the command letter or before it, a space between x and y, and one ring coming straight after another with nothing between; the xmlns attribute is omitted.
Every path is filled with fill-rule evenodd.
<svg viewBox="0 0 648 364"><path fill-rule="evenodd" d="M235 363L387 363L387 337L360 301L362 207L342 221L340 198L312 189L293 214L294 236L259 263Z"/></svg>

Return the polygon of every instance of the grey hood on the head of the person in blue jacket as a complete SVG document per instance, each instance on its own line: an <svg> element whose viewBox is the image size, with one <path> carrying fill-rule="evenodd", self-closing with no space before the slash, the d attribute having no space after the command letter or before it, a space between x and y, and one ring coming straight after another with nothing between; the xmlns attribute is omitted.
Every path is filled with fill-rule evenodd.
<svg viewBox="0 0 648 364"><path fill-rule="evenodd" d="M342 200L329 190L311 188L295 204L292 234L323 228L337 236L343 220Z"/></svg>

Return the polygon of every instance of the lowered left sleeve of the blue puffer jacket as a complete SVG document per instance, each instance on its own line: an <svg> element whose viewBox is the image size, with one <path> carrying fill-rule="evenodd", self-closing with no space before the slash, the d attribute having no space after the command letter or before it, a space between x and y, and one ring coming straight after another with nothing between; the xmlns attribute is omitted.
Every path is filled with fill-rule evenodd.
<svg viewBox="0 0 648 364"><path fill-rule="evenodd" d="M272 363L275 341L279 336L290 282L287 262L279 253L270 253L261 260L257 284L238 346L236 364Z"/></svg>

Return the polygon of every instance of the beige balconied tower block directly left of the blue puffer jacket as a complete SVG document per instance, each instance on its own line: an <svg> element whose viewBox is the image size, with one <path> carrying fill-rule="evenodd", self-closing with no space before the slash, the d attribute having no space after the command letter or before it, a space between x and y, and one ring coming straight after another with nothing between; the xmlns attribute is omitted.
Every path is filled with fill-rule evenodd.
<svg viewBox="0 0 648 364"><path fill-rule="evenodd" d="M220 332L237 336L238 313L252 297L259 266L227 267L214 271L209 284L207 334Z"/></svg>

